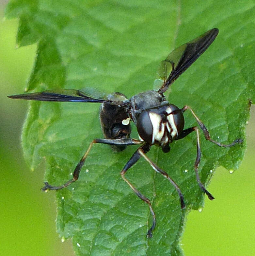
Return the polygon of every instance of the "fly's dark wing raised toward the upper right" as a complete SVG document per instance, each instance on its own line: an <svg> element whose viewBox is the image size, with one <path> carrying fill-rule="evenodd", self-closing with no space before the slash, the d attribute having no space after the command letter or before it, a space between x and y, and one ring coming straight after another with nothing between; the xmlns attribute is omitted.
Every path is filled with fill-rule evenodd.
<svg viewBox="0 0 255 256"><path fill-rule="evenodd" d="M208 30L194 40L179 46L169 53L167 58L160 63L158 69L158 75L164 81L164 84L158 90L159 93L164 93L169 85L197 60L212 44L218 32L218 28Z"/></svg>

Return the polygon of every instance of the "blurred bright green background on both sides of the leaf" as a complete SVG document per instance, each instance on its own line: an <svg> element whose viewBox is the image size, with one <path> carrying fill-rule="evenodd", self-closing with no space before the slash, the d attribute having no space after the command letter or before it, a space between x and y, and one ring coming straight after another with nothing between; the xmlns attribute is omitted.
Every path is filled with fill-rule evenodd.
<svg viewBox="0 0 255 256"><path fill-rule="evenodd" d="M44 180L43 166L31 173L23 159L20 137L27 102L6 97L23 92L36 45L15 48L18 20L3 21L3 7L2 3L0 254L72 255L71 242L61 243L55 231L55 193L40 191ZM255 255L254 126L255 107L252 105L243 164L233 174L218 168L209 186L216 200L211 202L206 198L202 212L192 211L188 215L182 240L186 256Z"/></svg>

